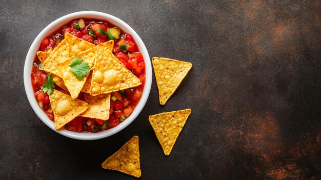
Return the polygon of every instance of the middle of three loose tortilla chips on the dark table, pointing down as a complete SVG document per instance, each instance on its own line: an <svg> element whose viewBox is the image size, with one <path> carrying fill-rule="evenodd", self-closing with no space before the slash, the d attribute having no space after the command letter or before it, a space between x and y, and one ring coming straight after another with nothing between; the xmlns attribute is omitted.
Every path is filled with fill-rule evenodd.
<svg viewBox="0 0 321 180"><path fill-rule="evenodd" d="M155 131L156 137L160 146L162 146L165 155L171 153L176 139L180 131L182 131L191 112L191 109L185 109L149 116L149 122Z"/></svg>

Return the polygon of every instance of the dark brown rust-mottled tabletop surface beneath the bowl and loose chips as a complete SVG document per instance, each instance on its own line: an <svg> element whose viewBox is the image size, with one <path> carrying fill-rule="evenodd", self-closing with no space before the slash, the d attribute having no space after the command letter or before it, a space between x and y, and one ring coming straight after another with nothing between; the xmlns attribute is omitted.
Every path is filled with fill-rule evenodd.
<svg viewBox="0 0 321 180"><path fill-rule="evenodd" d="M320 1L0 2L0 179L133 179L101 163L139 136L141 179L321 179ZM123 19L150 57L193 68L165 106L153 79L123 131L78 141L31 109L23 66L36 35L65 14ZM148 116L191 108L165 156Z"/></svg>

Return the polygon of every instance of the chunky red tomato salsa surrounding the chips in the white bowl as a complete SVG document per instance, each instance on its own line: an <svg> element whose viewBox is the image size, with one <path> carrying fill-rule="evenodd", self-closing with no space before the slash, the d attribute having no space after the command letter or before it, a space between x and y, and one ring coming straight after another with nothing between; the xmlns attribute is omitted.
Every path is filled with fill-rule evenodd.
<svg viewBox="0 0 321 180"><path fill-rule="evenodd" d="M64 39L64 35L67 32L94 45L113 39L114 47L112 53L127 69L141 79L142 84L137 87L111 93L110 116L107 121L77 116L66 124L65 128L75 132L98 132L113 128L119 123L126 121L126 118L133 112L139 99L141 99L145 85L144 58L133 37L107 21L81 18L71 21L63 26L63 28L60 28L55 33L43 39L39 51L54 49ZM54 122L49 95L41 90L43 82L47 81L47 73L42 70L39 64L40 61L38 57L36 57L31 71L31 83L34 95L39 106L44 110L49 119ZM55 85L54 89L62 92L65 91L57 85ZM77 98L84 101L84 93L81 92Z"/></svg>

